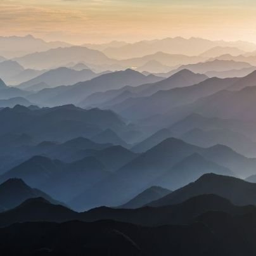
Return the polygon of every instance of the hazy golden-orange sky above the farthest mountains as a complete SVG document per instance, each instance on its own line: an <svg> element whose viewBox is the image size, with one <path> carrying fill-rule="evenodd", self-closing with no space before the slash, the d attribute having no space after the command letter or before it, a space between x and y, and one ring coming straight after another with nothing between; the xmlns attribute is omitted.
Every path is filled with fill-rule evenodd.
<svg viewBox="0 0 256 256"><path fill-rule="evenodd" d="M255 0L0 0L0 35L48 41L205 37L256 42Z"/></svg>

